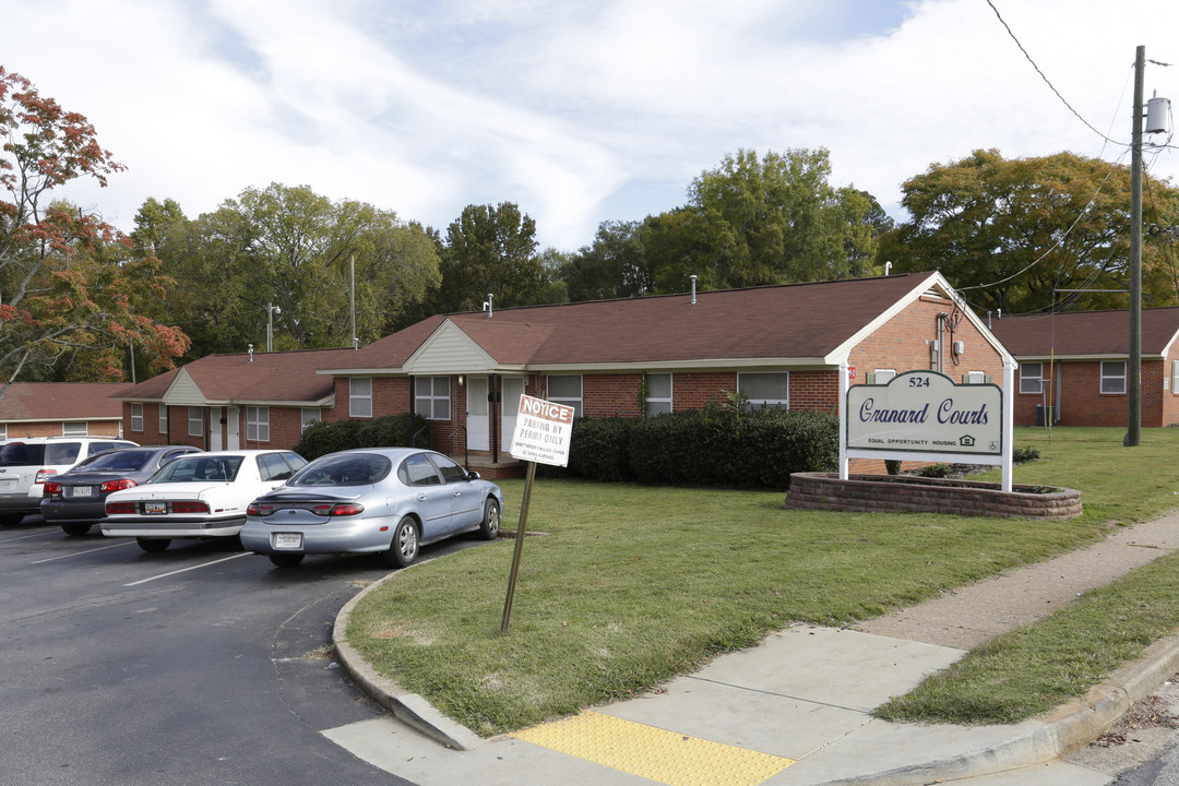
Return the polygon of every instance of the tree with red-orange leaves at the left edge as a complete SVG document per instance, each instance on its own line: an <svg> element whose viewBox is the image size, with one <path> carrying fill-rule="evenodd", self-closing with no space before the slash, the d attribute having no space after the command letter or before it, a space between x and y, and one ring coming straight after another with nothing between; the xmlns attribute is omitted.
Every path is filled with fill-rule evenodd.
<svg viewBox="0 0 1179 786"><path fill-rule="evenodd" d="M70 180L103 186L124 167L94 126L0 66L0 396L19 376L123 378L134 344L152 370L189 339L143 316L160 298L159 260L98 216L52 199Z"/></svg>

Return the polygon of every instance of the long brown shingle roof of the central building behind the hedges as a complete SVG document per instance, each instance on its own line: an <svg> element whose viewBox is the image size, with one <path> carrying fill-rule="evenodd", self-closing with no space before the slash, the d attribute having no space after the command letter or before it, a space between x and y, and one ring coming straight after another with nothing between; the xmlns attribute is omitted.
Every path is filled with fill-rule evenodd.
<svg viewBox="0 0 1179 786"><path fill-rule="evenodd" d="M762 286L430 317L383 338L336 370L399 369L453 322L506 365L825 357L929 277Z"/></svg>

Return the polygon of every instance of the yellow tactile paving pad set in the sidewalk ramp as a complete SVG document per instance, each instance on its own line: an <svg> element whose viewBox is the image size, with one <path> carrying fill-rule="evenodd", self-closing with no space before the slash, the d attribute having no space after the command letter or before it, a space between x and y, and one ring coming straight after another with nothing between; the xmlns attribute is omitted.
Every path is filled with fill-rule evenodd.
<svg viewBox="0 0 1179 786"><path fill-rule="evenodd" d="M667 786L756 786L795 764L595 712L513 737Z"/></svg>

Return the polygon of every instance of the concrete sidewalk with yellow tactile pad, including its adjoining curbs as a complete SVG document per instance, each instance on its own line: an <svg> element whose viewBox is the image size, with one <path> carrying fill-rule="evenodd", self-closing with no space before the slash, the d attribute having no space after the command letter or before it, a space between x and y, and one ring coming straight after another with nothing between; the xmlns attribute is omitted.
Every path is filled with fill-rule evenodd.
<svg viewBox="0 0 1179 786"><path fill-rule="evenodd" d="M930 608L874 621L883 628L908 626L908 638L795 626L757 647L717 658L654 693L492 740L480 740L420 696L400 691L357 656L344 638L357 596L337 619L337 656L393 716L324 733L421 786L809 786L956 779L976 786L1098 786L1112 779L1059 757L1096 738L1179 671L1179 638L1158 642L1084 701L1050 718L1007 726L918 726L877 720L870 712L967 652L914 640L921 630L937 639L953 639L953 632L961 630L976 646L979 630L994 635L1032 621L1016 607L1036 608L1043 616L1085 584L1112 581L1177 546L1179 521L1173 517L1127 528L1101 544L948 594L926 605ZM1089 562L1104 567L1089 570ZM1069 579L1062 580L1066 568ZM987 596L1002 602L980 600ZM987 619L996 615L1005 623Z"/></svg>

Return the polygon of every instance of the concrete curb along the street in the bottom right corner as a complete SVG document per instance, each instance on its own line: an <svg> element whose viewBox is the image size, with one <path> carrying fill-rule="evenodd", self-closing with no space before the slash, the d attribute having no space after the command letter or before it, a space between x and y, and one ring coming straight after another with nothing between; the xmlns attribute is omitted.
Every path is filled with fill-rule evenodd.
<svg viewBox="0 0 1179 786"><path fill-rule="evenodd" d="M1014 726L1015 733L1002 742L961 755L831 781L830 786L916 786L1042 764L1095 740L1175 672L1179 672L1179 635L1154 642L1140 658L1091 688L1084 699Z"/></svg>

